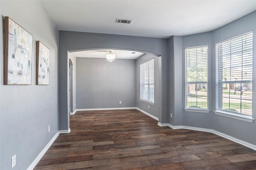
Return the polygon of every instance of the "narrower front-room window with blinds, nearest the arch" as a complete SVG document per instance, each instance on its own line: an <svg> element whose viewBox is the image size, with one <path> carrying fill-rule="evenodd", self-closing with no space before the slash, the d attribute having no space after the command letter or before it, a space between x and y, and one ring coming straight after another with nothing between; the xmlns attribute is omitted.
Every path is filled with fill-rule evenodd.
<svg viewBox="0 0 256 170"><path fill-rule="evenodd" d="M208 109L208 46L191 47L186 53L186 108Z"/></svg>

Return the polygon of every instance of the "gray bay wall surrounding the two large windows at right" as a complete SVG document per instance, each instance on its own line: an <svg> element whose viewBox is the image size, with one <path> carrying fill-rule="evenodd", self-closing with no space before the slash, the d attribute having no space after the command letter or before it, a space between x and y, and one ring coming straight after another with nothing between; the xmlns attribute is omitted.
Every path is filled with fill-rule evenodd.
<svg viewBox="0 0 256 170"><path fill-rule="evenodd" d="M215 81L215 43L239 36L246 32L253 31L253 42L256 42L256 11L248 14L226 26L223 26L213 32L202 34L195 34L182 37L182 51L183 51L183 65L185 64L184 50L186 47L208 45L208 95L209 95L209 109L210 113L195 113L182 111L182 125L191 127L210 128L218 132L230 135L232 137L244 140L251 144L256 145L256 121L248 123L220 115L215 115L216 105L216 81ZM256 66L256 43L253 43L253 65ZM185 68L183 67L183 108L185 107ZM253 79L256 80L256 69L253 69ZM256 89L256 83L253 82L253 91ZM252 117L256 118L256 93L253 94L253 114Z"/></svg>

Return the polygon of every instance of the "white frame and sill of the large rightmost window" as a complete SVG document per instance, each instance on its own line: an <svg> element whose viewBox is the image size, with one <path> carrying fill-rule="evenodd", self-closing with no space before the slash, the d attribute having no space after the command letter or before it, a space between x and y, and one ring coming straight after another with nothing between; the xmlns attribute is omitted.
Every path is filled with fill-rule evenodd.
<svg viewBox="0 0 256 170"><path fill-rule="evenodd" d="M223 109L223 107L222 108L220 108L221 106L220 106L220 102L222 102L222 96L223 96L223 91L222 92L220 92L219 91L219 87L220 86L222 86L223 87L223 85L224 85L224 83L232 83L232 81L226 81L226 79L225 79L225 81L221 81L221 83L220 83L220 69L219 69L219 63L220 63L220 61L219 61L219 57L220 57L220 55L219 55L219 52L217 52L218 51L218 49L219 49L219 45L221 45L221 44L223 44L223 43L227 43L227 42L229 42L230 41L230 43L232 42L232 40L236 40L237 38L242 38L243 36L246 36L246 35L248 35L248 34L252 34L252 41L253 41L253 32L252 31L250 31L250 32L246 32L246 33L244 33L244 34L240 34L240 35L238 35L238 36L235 36L235 37L232 37L232 38L229 38L229 39L227 39L227 40L223 40L223 41L221 41L221 42L218 42L218 43L215 43L215 50L216 50L216 52L215 52L215 55L216 55L216 110L214 111L214 113L216 114L216 115L221 115L221 116L225 116L225 117L230 117L230 118L233 118L233 119L238 119L238 120L242 120L242 121L247 121L247 122L253 122L253 120L254 119L252 119L252 115L251 116L248 116L247 114L245 114L245 113L242 113L242 109L241 109L241 113L236 113L236 112L233 112L233 111L228 111L228 110L225 110L225 109ZM241 45L242 46L242 45ZM241 47L241 49L243 49L243 47ZM230 47L230 51L231 51L232 49L231 49L231 47ZM247 51L246 51L247 52ZM252 49L251 49L251 52L252 52L252 69L250 70L250 71L252 71L253 72L253 42L252 42ZM230 53L232 53L232 52L230 52ZM231 54L230 54L231 55ZM238 55L238 56L240 56L241 58L242 58L242 55ZM222 59L222 61L223 61L223 59ZM230 61L231 62L231 61ZM236 64L239 64L239 63L233 63L233 65L231 65L230 64L230 69L232 69L233 67L234 67L234 65L236 65ZM242 67L243 68L243 67ZM223 69L223 66L221 67L221 69ZM242 70L243 71L243 70ZM222 73L221 73L221 75L223 75L223 71L222 71ZM242 77L242 75L241 75L241 77ZM222 78L223 79L223 78ZM246 81L246 82L249 82L249 83L252 83L252 80L253 80L253 76L252 76L252 78L251 78L251 80L250 81ZM235 79L235 84L237 84L237 83L240 83L241 85L242 85L242 83L244 83L245 82L245 80L240 80L240 81L238 81L237 80L237 78ZM234 82L233 82L234 83ZM242 88L242 87L241 87ZM222 93L221 95L219 95L220 93ZM253 93L252 93L252 97L253 97ZM229 96L229 98L228 99L230 99L230 96ZM240 95L240 98L239 98L240 100L242 100L242 96ZM229 102L230 103L230 102ZM252 113L253 113L253 103L252 103Z"/></svg>

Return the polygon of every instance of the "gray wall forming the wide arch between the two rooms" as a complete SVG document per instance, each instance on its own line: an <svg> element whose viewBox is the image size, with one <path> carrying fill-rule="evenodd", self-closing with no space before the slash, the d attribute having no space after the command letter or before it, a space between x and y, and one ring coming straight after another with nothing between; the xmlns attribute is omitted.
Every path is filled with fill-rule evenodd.
<svg viewBox="0 0 256 170"><path fill-rule="evenodd" d="M81 51L84 49L130 49L132 51L142 51L157 54L158 56L161 55L162 77L167 77L168 48L166 39L68 31L60 31L59 36L59 83L61 84L61 86L59 86L60 130L69 128L67 51ZM161 123L167 123L166 113L168 112L168 94L166 93L166 90L168 89L168 79L162 78L160 87L160 89L162 89L160 100L163 102L160 108L161 114L159 121Z"/></svg>

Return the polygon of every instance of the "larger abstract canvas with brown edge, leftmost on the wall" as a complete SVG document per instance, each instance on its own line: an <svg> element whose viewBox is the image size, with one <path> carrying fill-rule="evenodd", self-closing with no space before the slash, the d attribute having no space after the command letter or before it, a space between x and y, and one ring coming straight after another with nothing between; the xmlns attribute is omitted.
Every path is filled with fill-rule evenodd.
<svg viewBox="0 0 256 170"><path fill-rule="evenodd" d="M4 85L31 85L33 36L5 17Z"/></svg>

